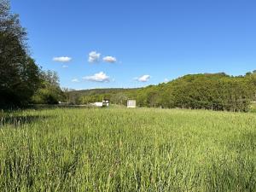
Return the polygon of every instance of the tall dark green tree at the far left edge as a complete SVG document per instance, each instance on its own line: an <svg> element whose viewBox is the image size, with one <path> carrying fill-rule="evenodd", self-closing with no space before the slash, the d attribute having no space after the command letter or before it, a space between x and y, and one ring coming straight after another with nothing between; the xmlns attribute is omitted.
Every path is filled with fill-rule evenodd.
<svg viewBox="0 0 256 192"><path fill-rule="evenodd" d="M39 85L39 69L27 54L26 30L9 2L0 1L0 105L24 105Z"/></svg>

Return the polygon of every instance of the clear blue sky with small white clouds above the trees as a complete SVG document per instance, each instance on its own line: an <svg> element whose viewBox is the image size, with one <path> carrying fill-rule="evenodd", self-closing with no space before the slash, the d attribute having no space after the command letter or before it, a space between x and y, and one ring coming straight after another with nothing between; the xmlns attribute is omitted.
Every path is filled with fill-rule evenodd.
<svg viewBox="0 0 256 192"><path fill-rule="evenodd" d="M140 87L188 73L256 69L256 1L12 0L11 6L27 29L32 57L55 70L62 87Z"/></svg>

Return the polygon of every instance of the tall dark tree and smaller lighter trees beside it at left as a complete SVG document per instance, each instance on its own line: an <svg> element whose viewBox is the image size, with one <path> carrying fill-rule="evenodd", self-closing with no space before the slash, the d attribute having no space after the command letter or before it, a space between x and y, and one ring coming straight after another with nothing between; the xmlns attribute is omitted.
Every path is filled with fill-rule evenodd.
<svg viewBox="0 0 256 192"><path fill-rule="evenodd" d="M55 72L43 71L29 54L26 29L9 1L0 1L0 107L56 103L63 92Z"/></svg>

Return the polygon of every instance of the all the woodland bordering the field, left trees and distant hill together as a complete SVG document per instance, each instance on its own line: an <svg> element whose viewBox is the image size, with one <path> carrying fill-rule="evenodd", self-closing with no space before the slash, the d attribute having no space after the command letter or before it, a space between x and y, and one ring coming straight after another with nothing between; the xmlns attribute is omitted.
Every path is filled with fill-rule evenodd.
<svg viewBox="0 0 256 192"><path fill-rule="evenodd" d="M89 104L109 99L138 107L204 108L244 111L256 96L256 72L233 77L225 73L189 74L168 83L139 89L61 89L57 73L44 71L29 54L26 29L12 14L9 2L0 2L0 108L28 104Z"/></svg>

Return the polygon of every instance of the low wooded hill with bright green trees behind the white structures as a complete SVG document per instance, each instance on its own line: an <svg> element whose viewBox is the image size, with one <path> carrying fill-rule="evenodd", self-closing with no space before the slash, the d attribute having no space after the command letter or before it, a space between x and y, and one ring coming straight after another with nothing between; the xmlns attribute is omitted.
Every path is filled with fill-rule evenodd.
<svg viewBox="0 0 256 192"><path fill-rule="evenodd" d="M66 94L67 102L74 104L108 98L111 103L125 105L127 99L136 99L138 107L247 111L256 96L256 73L237 77L225 73L189 74L138 89L73 90Z"/></svg>

